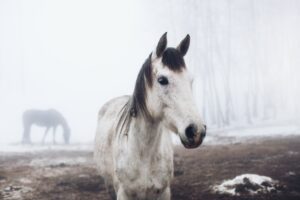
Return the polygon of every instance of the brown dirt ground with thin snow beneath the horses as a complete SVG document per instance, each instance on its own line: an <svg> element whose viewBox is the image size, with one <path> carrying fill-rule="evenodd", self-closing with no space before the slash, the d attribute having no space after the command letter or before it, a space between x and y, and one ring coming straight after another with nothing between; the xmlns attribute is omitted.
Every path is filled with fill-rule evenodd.
<svg viewBox="0 0 300 200"><path fill-rule="evenodd" d="M300 199L300 137L251 143L177 147L172 199ZM278 180L278 191L229 196L211 187L224 179L255 173ZM88 151L0 154L0 199L108 200Z"/></svg>

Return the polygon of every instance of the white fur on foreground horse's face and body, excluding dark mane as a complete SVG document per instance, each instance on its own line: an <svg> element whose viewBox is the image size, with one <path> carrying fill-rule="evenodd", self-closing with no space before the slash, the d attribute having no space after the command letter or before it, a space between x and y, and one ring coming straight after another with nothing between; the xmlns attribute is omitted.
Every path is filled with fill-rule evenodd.
<svg viewBox="0 0 300 200"><path fill-rule="evenodd" d="M152 69L146 105L153 121L131 117L128 132L118 133L119 113L129 96L111 100L99 112L95 161L111 196L115 191L118 200L169 200L174 170L171 131L184 141L190 123L203 129L187 70L171 71L155 57ZM168 86L157 82L161 75L168 78Z"/></svg>

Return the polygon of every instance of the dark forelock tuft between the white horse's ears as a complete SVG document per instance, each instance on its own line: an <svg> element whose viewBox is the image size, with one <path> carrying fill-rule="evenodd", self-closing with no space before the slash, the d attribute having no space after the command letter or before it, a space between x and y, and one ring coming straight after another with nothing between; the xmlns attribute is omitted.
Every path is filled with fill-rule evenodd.
<svg viewBox="0 0 300 200"><path fill-rule="evenodd" d="M181 53L175 48L167 48L162 55L162 63L172 71L181 71L185 62Z"/></svg>

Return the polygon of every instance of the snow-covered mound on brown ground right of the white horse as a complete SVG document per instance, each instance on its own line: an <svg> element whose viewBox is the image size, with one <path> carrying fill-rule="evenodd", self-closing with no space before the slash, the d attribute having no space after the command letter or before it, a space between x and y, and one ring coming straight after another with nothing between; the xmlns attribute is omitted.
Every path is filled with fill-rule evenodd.
<svg viewBox="0 0 300 200"><path fill-rule="evenodd" d="M276 190L276 183L277 181L267 176L242 174L234 179L225 180L220 185L213 186L212 189L216 193L230 195L268 193Z"/></svg>

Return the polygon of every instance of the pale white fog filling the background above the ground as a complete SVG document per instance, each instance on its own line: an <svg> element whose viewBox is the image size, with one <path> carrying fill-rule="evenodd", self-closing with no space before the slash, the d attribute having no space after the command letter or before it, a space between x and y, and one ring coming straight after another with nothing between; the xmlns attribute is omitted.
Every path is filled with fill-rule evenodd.
<svg viewBox="0 0 300 200"><path fill-rule="evenodd" d="M20 142L31 108L59 110L71 142L91 142L101 105L132 93L166 31L169 46L191 35L185 60L209 128L297 125L299 24L297 0L1 0L0 143Z"/></svg>

